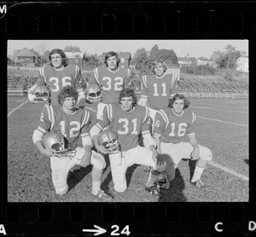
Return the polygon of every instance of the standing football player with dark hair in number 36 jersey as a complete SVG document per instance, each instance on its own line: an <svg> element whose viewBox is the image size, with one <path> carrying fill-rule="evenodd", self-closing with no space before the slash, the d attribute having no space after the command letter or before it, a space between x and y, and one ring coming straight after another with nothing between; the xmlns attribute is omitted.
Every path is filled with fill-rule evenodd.
<svg viewBox="0 0 256 237"><path fill-rule="evenodd" d="M58 105L58 94L61 89L67 85L71 85L79 91L79 105L85 104L84 91L81 83L81 70L77 65L69 65L67 56L61 49L53 49L49 53L49 65L40 68L38 73L38 81L28 90L28 99L32 103L36 103L34 99L34 89L42 84L46 85L50 90L51 104Z"/></svg>

